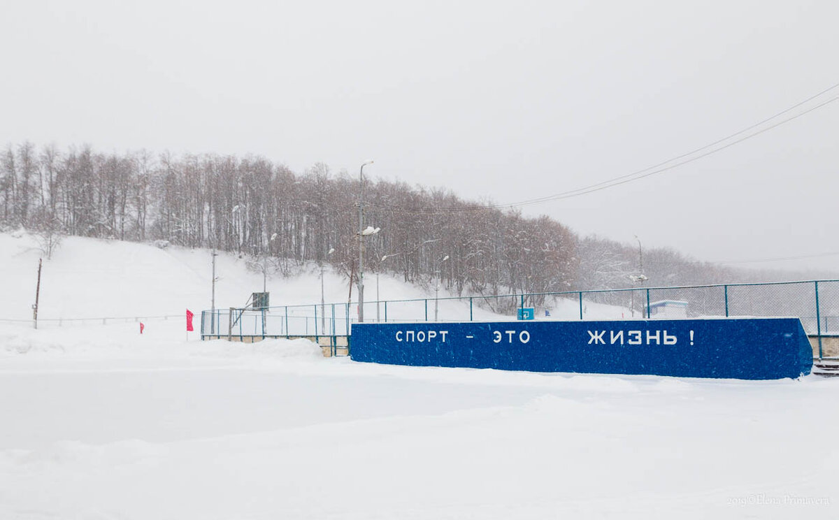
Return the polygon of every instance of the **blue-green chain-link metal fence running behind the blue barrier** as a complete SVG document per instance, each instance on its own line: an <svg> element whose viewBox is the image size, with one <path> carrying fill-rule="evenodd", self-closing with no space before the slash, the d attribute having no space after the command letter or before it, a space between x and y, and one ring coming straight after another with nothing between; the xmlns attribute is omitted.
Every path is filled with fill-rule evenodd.
<svg viewBox="0 0 839 520"><path fill-rule="evenodd" d="M365 302L364 315L388 323L503 321L522 308L533 308L536 320L792 316L817 344L817 357L839 355L839 280L382 300ZM205 310L201 337L350 335L357 316L357 303Z"/></svg>

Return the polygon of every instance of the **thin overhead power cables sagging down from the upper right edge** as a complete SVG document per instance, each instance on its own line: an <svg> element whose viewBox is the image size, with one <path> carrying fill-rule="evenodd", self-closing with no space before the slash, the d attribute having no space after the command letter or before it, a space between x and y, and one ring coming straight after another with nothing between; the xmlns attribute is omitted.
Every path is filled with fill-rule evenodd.
<svg viewBox="0 0 839 520"><path fill-rule="evenodd" d="M378 207L378 208L381 208L381 209L399 210L399 211L404 211L404 212L409 212L409 213L444 213L444 212L458 213L458 212L465 212L465 211L487 211L487 210L513 209L513 208L524 206L524 205L539 204L539 203L548 202L548 201L551 201L551 200L569 199L569 198L572 198L572 197L577 197L577 196L580 196L580 195L586 195L586 194L589 194L589 193L593 193L595 191L607 190L608 188L612 188L612 187L615 187L615 186L618 186L618 185L624 185L624 184L627 184L629 182L634 182L634 181L640 180L640 179L645 179L645 178L647 178L651 175L664 173L664 172L669 171L671 169L678 168L682 165L692 163L692 162L694 162L696 160L699 160L699 159L703 159L703 158L705 158L705 157L707 157L707 156L709 156L713 153L721 152L722 150L724 150L726 148L730 148L730 147L734 146L735 144L743 143L743 141L746 141L748 139L757 137L758 135L760 135L762 133L765 133L765 132L768 132L769 130L772 130L773 128L779 127L779 126L781 126L781 125L783 125L787 122L790 122L790 121L793 121L793 120L795 120L799 117L802 117L805 114L813 112L816 109L819 109L821 107L826 106L829 103L832 103L833 101L839 100L839 96L832 97L831 99L829 99L827 101L822 101L821 103L817 104L815 107L810 107L810 108L806 109L804 112L799 112L799 113L797 113L793 116L784 118L779 122L775 122L774 124L770 125L769 127L764 127L762 129L759 129L756 132L749 133L750 131L754 130L755 128L758 128L758 127L762 126L763 124L765 124L767 122L773 121L774 119L777 119L778 117L781 117L788 112L792 112L796 108L802 107L806 103L808 103L810 101L813 101L814 99L816 99L820 96L823 96L827 92L832 91L832 90L836 89L837 87L839 87L839 83L836 83L836 84L826 88L825 90L823 90L821 92L818 92L817 94L814 94L813 96L810 96L810 97L806 98L803 101L799 101L798 103L796 103L795 105L793 105L791 107L785 108L784 110L782 110L780 112L777 112L776 114L774 114L774 116L767 117L767 118L763 119L762 121L756 122L753 125L745 127L742 130L739 130L735 133L732 133L725 138L717 139L717 141L714 141L713 143L708 143L708 144L706 144L706 145L704 145L700 148L696 148L696 149L691 150L690 152L687 152L687 153L682 153L682 154L677 155L677 156L675 156L671 159L667 159L663 162L660 162L658 164L654 164L654 165L649 166L647 168L639 169L639 170L634 171L634 172L629 173L629 174L623 174L623 175L620 175L620 176L615 177L613 179L603 180L603 181L595 183L593 185L584 186L584 187L578 188L576 190L564 191L564 192L560 192L560 193L557 193L557 194L554 194L554 195L546 195L544 197L539 197L539 198L529 199L529 200L521 200L519 202L513 202L513 203L508 203L508 204L467 205L467 206L463 206L463 207L453 207L452 206L452 207L445 207L445 208L423 208L423 209L417 209L417 210L405 210L402 207L393 206L393 205L375 205L375 204L373 204L373 205L375 207ZM746 133L748 133L748 134L743 136L742 138L735 139L731 143L726 143L727 141L730 141L732 138L737 138L737 136L741 136L741 135L746 134ZM717 145L720 145L722 143L726 143L726 144L724 144L722 146L717 146ZM709 148L711 148L711 149L709 150ZM700 153L700 152L703 152L704 150L708 150L708 151L706 151L705 153ZM699 153L699 154L696 155L697 153ZM681 160L681 159L684 159L684 160Z"/></svg>

